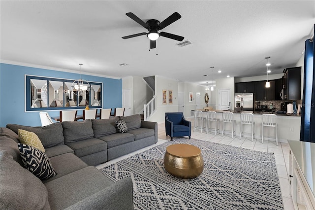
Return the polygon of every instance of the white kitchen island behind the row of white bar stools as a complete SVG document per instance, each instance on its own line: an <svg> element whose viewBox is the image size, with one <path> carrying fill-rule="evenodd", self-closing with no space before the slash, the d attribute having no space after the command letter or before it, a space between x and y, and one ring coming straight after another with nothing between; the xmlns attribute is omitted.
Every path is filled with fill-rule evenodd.
<svg viewBox="0 0 315 210"><path fill-rule="evenodd" d="M206 111L204 109L198 109L203 111L204 117L206 117ZM220 119L220 131L222 126L222 112L229 112L227 110L210 110L217 112L217 118ZM240 136L240 122L241 122L241 113L232 111L234 114L234 120L236 120L236 137L239 138ZM270 112L255 112L255 111L243 111L243 113L252 113L253 120L255 121L255 137L256 139L261 140L261 116L262 114L269 114ZM274 113L274 112L272 112ZM301 127L301 116L292 115L292 114L277 114L277 122L278 122L278 141L279 142L287 142L287 140L300 140L300 127ZM191 115L193 116L193 110L191 111ZM227 125L230 126L230 125ZM231 129L227 127L227 129ZM274 138L275 132L273 128L264 128L264 140L269 140L268 138ZM251 137L251 128L250 126L244 127L244 136ZM274 140L276 141L276 140Z"/></svg>

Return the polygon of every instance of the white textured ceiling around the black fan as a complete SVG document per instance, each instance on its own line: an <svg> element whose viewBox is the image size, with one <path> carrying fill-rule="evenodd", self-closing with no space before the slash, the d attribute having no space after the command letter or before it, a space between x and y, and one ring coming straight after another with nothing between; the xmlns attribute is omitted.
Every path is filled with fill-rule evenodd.
<svg viewBox="0 0 315 210"><path fill-rule="evenodd" d="M211 66L214 79L265 75L266 56L271 74L293 67L315 24L315 0L1 0L0 9L4 63L73 71L82 63L88 74L162 75L203 85L211 84L210 76L203 76L211 74ZM160 37L149 51L145 35L122 39L147 32L127 12L145 22L178 12L182 18L160 31L192 44L178 47L178 41Z"/></svg>

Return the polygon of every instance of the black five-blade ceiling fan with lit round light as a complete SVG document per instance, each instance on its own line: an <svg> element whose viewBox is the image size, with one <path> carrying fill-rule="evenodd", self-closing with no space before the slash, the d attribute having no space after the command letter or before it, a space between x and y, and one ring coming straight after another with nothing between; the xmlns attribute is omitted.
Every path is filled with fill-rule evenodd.
<svg viewBox="0 0 315 210"><path fill-rule="evenodd" d="M122 37L123 39L132 38L132 37L136 37L136 36L140 36L140 35L147 35L148 38L150 39L150 49L156 48L156 40L158 39L159 36L175 39L178 41L183 41L183 39L184 39L184 37L180 36L180 35L173 35L173 34L169 34L166 32L159 32L158 33L158 30L164 29L166 26L174 23L175 21L177 21L178 19L180 19L182 17L178 12L174 12L173 14L171 14L168 18L166 18L161 23L155 19L148 20L145 23L143 20L138 18L132 12L128 12L128 13L126 13L126 15L129 18L131 18L132 20L134 20L135 22L137 22L138 24L140 24L141 26L143 26L144 28L148 29L149 33L143 32L143 33L134 34L134 35L127 35L127 36L123 36Z"/></svg>

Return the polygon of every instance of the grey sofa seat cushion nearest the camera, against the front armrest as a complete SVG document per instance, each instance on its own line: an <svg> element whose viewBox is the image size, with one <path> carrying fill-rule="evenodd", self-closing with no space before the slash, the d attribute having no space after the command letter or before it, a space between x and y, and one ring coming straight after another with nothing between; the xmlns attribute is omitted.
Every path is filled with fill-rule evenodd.
<svg viewBox="0 0 315 210"><path fill-rule="evenodd" d="M94 166L89 166L47 182L45 186L51 209L62 210L113 184Z"/></svg>

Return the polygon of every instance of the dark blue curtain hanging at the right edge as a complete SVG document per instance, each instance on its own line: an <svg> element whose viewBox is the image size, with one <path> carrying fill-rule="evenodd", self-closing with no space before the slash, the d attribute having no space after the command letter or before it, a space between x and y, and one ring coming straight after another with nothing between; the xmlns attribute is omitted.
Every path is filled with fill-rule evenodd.
<svg viewBox="0 0 315 210"><path fill-rule="evenodd" d="M315 31L315 25L314 25ZM314 39L305 41L304 88L300 140L315 142L315 47Z"/></svg>

